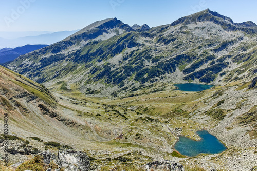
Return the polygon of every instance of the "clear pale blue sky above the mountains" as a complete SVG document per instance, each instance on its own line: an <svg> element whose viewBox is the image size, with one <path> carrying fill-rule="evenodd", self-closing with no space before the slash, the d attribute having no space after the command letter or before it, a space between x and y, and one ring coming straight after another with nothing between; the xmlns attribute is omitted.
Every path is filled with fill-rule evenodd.
<svg viewBox="0 0 257 171"><path fill-rule="evenodd" d="M0 31L77 30L112 17L130 26L155 27L206 8L234 22L257 23L253 0L0 0L0 4Z"/></svg>

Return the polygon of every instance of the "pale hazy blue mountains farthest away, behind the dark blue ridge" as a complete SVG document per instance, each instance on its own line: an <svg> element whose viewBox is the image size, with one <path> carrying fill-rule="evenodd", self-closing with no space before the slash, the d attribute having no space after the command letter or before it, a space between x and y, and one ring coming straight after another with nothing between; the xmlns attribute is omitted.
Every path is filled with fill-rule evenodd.
<svg viewBox="0 0 257 171"><path fill-rule="evenodd" d="M9 48L15 48L18 46L24 46L24 45L38 45L38 44L53 44L56 42L59 42L63 39L65 39L67 36L74 34L78 30L75 31L60 31L60 32L54 32L54 33L47 33L47 34L40 34L36 35L36 33L32 32L31 35L33 36L25 36L25 37L19 37L16 39L4 39L0 36L0 49L9 47ZM42 32L44 33L44 32ZM21 34L21 33L20 33ZM24 33L24 35L28 35L29 33ZM1 32L0 35L3 35L3 32ZM17 36L17 35L16 35ZM10 37L10 36L9 36Z"/></svg>

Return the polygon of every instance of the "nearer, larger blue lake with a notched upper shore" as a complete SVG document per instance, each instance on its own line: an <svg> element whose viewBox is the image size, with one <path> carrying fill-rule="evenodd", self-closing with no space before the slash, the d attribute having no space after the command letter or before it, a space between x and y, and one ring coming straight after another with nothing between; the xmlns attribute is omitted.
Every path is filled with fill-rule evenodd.
<svg viewBox="0 0 257 171"><path fill-rule="evenodd" d="M201 141L194 141L190 138L180 136L179 141L174 146L180 154L193 157L201 153L217 154L222 153L227 148L215 136L209 134L206 130L196 132L201 138Z"/></svg>

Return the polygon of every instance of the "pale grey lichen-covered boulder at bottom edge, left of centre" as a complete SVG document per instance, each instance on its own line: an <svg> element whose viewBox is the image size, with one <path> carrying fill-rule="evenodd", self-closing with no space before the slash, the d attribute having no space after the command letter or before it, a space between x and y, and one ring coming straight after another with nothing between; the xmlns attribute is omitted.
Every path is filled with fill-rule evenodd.
<svg viewBox="0 0 257 171"><path fill-rule="evenodd" d="M57 162L67 171L88 170L90 167L86 153L76 150L60 150Z"/></svg>

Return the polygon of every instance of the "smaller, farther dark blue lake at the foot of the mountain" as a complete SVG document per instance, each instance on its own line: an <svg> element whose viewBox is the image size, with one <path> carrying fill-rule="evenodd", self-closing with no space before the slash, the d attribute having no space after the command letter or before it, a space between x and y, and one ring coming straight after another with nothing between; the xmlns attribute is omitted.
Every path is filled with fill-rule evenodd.
<svg viewBox="0 0 257 171"><path fill-rule="evenodd" d="M213 85L194 83L174 84L174 86L178 87L180 91L203 91L213 87Z"/></svg>

